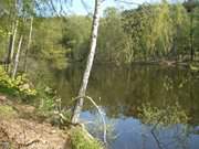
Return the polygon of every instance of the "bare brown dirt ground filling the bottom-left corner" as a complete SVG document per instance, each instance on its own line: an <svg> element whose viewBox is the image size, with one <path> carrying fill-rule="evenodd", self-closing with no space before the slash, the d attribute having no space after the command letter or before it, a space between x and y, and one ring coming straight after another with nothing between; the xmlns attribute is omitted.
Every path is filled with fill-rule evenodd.
<svg viewBox="0 0 199 149"><path fill-rule="evenodd" d="M4 147L3 147L4 146ZM0 120L0 148L70 149L69 135L49 124L24 119Z"/></svg>

